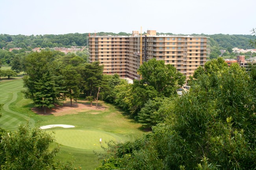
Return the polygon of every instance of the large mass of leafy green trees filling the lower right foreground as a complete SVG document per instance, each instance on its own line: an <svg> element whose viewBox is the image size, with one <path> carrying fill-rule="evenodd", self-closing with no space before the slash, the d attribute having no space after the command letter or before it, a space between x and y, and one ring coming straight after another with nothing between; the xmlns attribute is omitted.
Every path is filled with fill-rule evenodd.
<svg viewBox="0 0 256 170"><path fill-rule="evenodd" d="M109 143L98 169L254 170L254 69L248 74L221 58L207 62L189 82L188 93L163 104L148 100L139 116L147 124L156 121L152 133L132 143Z"/></svg>

